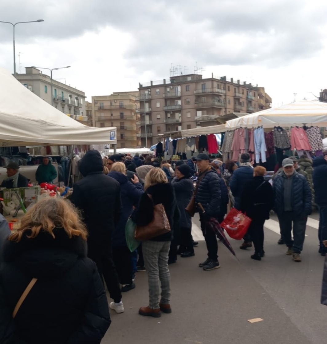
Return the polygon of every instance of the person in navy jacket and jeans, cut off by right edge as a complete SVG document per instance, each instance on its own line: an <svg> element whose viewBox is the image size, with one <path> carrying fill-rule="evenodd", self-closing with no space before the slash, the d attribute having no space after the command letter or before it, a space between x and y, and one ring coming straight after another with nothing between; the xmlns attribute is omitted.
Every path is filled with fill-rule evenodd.
<svg viewBox="0 0 327 344"><path fill-rule="evenodd" d="M315 203L319 208L319 253L326 256L327 248L323 241L327 240L327 154L313 161L312 179L315 189Z"/></svg>

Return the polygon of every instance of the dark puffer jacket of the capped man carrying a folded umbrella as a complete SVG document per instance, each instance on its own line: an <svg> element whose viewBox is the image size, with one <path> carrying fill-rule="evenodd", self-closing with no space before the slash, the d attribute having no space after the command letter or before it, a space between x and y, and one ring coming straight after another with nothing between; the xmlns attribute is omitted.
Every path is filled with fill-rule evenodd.
<svg viewBox="0 0 327 344"><path fill-rule="evenodd" d="M222 201L221 195L221 178L218 173L210 168L207 172L199 175L198 191L195 196L195 203L201 203L207 216L218 217ZM201 210L198 209L201 213Z"/></svg>

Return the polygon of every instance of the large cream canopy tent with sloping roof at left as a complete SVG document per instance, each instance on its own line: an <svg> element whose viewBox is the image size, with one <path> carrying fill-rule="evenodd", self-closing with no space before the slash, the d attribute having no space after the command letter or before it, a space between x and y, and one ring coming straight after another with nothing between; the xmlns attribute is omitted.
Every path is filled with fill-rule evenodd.
<svg viewBox="0 0 327 344"><path fill-rule="evenodd" d="M116 127L85 126L0 68L0 147L116 144Z"/></svg>

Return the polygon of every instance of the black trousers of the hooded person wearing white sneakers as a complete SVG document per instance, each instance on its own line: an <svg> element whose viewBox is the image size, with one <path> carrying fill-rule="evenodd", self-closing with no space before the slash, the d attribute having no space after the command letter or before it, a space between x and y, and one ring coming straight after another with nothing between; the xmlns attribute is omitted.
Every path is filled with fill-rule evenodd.
<svg viewBox="0 0 327 344"><path fill-rule="evenodd" d="M122 300L118 275L112 258L111 243L108 246L98 247L98 245L88 245L88 257L97 264L99 275L102 282L105 281L110 297L114 302L119 303ZM104 285L104 283L103 283Z"/></svg>

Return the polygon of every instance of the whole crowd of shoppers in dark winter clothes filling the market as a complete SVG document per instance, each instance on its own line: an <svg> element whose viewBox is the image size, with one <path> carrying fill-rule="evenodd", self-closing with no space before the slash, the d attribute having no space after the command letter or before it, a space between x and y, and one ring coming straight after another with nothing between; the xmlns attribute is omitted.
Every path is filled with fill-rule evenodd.
<svg viewBox="0 0 327 344"><path fill-rule="evenodd" d="M0 342L100 343L111 322L109 308L124 312L122 294L135 288L136 272L147 272L149 286L149 303L139 314L158 318L171 313L169 264L178 256L194 256L198 244L192 237L192 212L185 209L200 216L207 257L199 267L204 270L220 267L217 237L207 224L211 218L221 223L231 206L252 219L240 246L245 250L253 243L252 259L264 257L263 227L273 209L279 244L300 262L314 188L319 253L326 255L327 155L311 161L312 181L301 168L301 162L308 167L306 160L285 158L271 185L266 169L254 167L248 153L238 164L211 161L200 153L171 166L138 154L103 159L98 151L88 151L71 202L46 198L24 216L18 232L8 237L9 229L0 230ZM163 205L171 230L131 252L125 237L128 219L149 226L157 204ZM0 219L0 229L3 224ZM113 300L109 305L104 286ZM34 321L37 314L42 317Z"/></svg>

